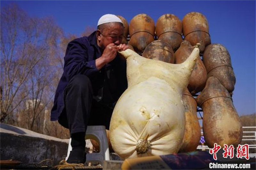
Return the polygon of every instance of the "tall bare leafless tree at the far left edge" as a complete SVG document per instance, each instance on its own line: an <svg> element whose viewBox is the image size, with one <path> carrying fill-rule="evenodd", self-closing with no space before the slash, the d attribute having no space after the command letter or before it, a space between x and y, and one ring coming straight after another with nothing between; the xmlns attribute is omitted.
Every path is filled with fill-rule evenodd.
<svg viewBox="0 0 256 170"><path fill-rule="evenodd" d="M59 55L61 36L51 17L31 18L16 4L1 9L1 122L14 123L26 111L32 119L25 113L23 119L33 129L53 98L52 58Z"/></svg>

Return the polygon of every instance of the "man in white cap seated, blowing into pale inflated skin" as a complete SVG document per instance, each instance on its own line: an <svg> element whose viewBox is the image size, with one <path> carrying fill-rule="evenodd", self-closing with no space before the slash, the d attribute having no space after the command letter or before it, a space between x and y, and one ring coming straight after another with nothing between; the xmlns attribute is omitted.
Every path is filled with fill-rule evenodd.
<svg viewBox="0 0 256 170"><path fill-rule="evenodd" d="M58 84L51 120L69 128L72 151L68 163L85 162L85 132L88 125L105 125L117 99L127 88L126 61L118 51L124 26L118 17L103 15L97 31L68 43L64 72Z"/></svg>

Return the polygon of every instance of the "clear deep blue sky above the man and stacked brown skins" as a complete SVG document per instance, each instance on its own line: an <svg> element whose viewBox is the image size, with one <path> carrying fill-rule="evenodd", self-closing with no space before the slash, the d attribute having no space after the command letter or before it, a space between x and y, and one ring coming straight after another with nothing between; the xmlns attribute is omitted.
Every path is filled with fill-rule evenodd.
<svg viewBox="0 0 256 170"><path fill-rule="evenodd" d="M96 29L100 16L112 13L128 23L140 13L157 19L163 14L180 20L189 12L204 14L212 43L224 45L236 75L233 102L239 115L255 113L255 1L4 1L15 2L31 17L52 16L68 34L80 35L85 27Z"/></svg>

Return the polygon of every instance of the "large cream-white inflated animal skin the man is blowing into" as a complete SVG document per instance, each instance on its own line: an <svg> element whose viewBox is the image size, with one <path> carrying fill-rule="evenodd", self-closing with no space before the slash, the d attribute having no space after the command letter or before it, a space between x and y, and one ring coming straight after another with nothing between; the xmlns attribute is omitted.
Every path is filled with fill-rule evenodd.
<svg viewBox="0 0 256 170"><path fill-rule="evenodd" d="M177 153L185 130L181 97L199 57L198 46L181 64L143 58L130 49L120 54L127 61L128 88L111 117L114 151L123 159Z"/></svg>

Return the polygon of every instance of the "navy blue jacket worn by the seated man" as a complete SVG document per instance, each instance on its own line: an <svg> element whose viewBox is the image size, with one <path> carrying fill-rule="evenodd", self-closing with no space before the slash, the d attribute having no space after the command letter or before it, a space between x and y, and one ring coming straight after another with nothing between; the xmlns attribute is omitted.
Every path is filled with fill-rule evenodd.
<svg viewBox="0 0 256 170"><path fill-rule="evenodd" d="M64 89L77 74L86 75L92 83L93 98L102 104L113 104L127 88L126 61L119 55L103 66L96 68L95 60L102 52L97 45L96 31L88 37L77 38L70 43L64 57L64 72L60 78L51 111L51 120L58 120L64 105Z"/></svg>

